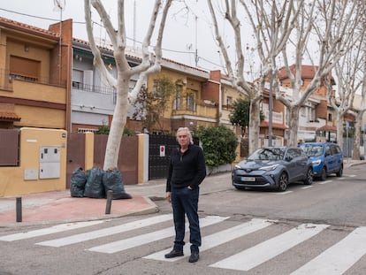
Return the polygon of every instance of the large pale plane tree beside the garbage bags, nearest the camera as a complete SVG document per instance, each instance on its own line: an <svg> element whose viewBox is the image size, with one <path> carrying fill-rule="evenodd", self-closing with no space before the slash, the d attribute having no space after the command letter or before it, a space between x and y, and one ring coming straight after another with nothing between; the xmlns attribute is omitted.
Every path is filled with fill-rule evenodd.
<svg viewBox="0 0 366 275"><path fill-rule="evenodd" d="M141 64L130 66L126 59L126 18L125 1L117 2L117 27L105 10L101 0L84 0L85 20L87 26L88 42L94 55L94 65L101 72L104 79L108 81L111 87L116 89L117 100L111 120L111 129L108 136L103 169L118 167L118 152L121 138L126 126L126 118L131 103L135 100L137 94L141 91L142 85L146 82L149 73L160 71L162 60L162 41L164 34L165 21L172 0L156 0L151 11L149 27L141 45ZM104 65L101 52L95 42L93 34L92 9L96 11L101 19L103 27L108 34L113 47L113 55L116 60L117 75L114 76ZM152 38L156 32L156 43L153 45ZM153 47L154 54L149 51ZM129 93L129 80L133 75L139 75L132 92Z"/></svg>

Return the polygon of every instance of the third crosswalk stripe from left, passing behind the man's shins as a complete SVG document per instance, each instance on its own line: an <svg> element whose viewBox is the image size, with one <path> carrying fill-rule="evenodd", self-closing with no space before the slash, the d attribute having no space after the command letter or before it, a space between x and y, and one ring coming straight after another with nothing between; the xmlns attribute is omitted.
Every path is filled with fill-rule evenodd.
<svg viewBox="0 0 366 275"><path fill-rule="evenodd" d="M201 227L208 225L215 225L219 222L224 221L229 217L219 217L219 216L208 216L206 218L200 219ZM188 231L188 224L186 225L186 232ZM138 235L132 238L128 238L121 241L113 241L98 247L89 248L89 251L101 252L101 253L116 253L119 251L126 250L128 248L139 247L141 245L147 244L152 241L159 241L168 237L174 236L174 227L165 228L152 233L146 233Z"/></svg>

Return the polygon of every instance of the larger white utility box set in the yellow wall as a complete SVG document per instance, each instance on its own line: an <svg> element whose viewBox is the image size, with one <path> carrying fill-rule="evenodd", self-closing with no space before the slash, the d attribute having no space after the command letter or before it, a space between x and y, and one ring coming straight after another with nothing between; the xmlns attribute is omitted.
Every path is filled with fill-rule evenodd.
<svg viewBox="0 0 366 275"><path fill-rule="evenodd" d="M40 179L57 179L60 177L60 149L57 146L41 146Z"/></svg>

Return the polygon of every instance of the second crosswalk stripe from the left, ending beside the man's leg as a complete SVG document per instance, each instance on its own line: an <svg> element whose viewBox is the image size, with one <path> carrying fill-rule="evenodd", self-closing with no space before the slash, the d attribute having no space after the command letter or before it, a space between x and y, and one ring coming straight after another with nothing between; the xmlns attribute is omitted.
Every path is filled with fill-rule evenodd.
<svg viewBox="0 0 366 275"><path fill-rule="evenodd" d="M42 242L38 242L36 244L41 245L41 246L59 248L59 247L64 247L66 245L73 244L73 243L78 243L81 241L89 241L89 240L93 240L93 239L97 239L97 238L101 238L101 237L105 237L105 236L110 236L110 235L117 234L117 233L124 233L124 232L130 231L130 230L145 227L148 225L155 225L155 224L162 223L164 221L171 220L171 219L172 219L172 214L159 215L156 217L136 220L136 221L124 224L124 225L116 225L116 226L103 228L103 229L95 230L95 231L88 232L88 233L80 233L80 234L72 235L72 236L65 237L65 238L59 238L59 239L50 240L50 241L42 241Z"/></svg>

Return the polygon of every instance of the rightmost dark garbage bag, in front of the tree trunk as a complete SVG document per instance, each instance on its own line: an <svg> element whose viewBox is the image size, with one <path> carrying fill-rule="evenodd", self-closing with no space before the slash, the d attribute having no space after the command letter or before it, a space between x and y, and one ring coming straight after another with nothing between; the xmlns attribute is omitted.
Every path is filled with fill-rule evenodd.
<svg viewBox="0 0 366 275"><path fill-rule="evenodd" d="M122 173L117 168L109 169L104 172L103 186L105 193L108 190L113 191L113 200L132 199L132 196L125 192L125 187L122 180Z"/></svg>

